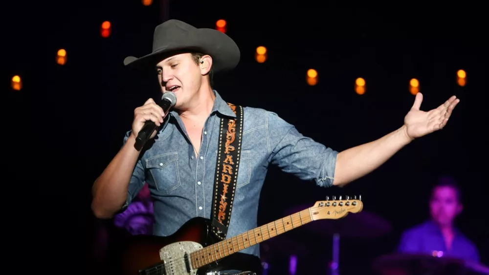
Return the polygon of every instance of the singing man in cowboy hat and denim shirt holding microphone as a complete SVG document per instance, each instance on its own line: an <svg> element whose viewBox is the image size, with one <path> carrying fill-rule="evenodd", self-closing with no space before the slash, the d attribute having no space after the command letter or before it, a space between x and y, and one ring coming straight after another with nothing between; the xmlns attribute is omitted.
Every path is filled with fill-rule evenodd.
<svg viewBox="0 0 489 275"><path fill-rule="evenodd" d="M93 185L95 216L110 218L127 207L146 180L154 198L154 234L170 235L193 217L210 217L216 160L222 161L217 156L221 119L236 118L235 111L240 110L236 106L233 110L212 89L211 77L233 69L239 59L238 46L224 33L177 20L156 27L151 54L126 58L128 66L156 68L162 92L175 93L177 103L167 115L152 99L134 110L124 146ZM418 94L399 129L339 153L302 136L275 113L243 108L241 159L226 236L257 227L259 195L269 164L322 187L345 185L378 168L413 139L443 128L459 100L453 96L429 112L420 110L421 102ZM148 120L160 129L140 152L134 143ZM259 247L241 253L258 259Z"/></svg>

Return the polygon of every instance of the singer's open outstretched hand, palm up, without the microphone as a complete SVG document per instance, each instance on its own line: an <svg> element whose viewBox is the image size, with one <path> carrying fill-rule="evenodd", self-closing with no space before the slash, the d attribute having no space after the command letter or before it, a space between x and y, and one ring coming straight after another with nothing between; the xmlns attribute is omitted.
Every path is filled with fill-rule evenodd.
<svg viewBox="0 0 489 275"><path fill-rule="evenodd" d="M411 139L422 137L445 127L453 108L460 102L457 97L452 96L438 108L425 112L420 110L422 101L423 95L417 93L411 110L404 117L406 133Z"/></svg>

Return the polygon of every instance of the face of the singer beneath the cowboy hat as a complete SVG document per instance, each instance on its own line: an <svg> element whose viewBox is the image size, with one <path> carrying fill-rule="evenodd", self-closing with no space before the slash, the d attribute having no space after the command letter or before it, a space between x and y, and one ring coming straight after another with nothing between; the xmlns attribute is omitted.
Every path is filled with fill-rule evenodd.
<svg viewBox="0 0 489 275"><path fill-rule="evenodd" d="M210 70L209 56L196 64L190 53L169 57L156 65L158 82L163 93L171 91L177 96L176 109L184 109L200 90L204 75Z"/></svg>

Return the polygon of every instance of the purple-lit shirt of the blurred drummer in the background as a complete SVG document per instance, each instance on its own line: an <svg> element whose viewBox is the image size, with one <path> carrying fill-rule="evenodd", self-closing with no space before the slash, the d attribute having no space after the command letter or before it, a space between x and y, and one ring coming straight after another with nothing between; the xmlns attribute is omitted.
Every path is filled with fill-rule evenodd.
<svg viewBox="0 0 489 275"><path fill-rule="evenodd" d="M437 256L460 258L479 262L477 247L460 231L455 232L451 250L447 250L442 232L431 220L406 230L400 240L401 253L434 253Z"/></svg>

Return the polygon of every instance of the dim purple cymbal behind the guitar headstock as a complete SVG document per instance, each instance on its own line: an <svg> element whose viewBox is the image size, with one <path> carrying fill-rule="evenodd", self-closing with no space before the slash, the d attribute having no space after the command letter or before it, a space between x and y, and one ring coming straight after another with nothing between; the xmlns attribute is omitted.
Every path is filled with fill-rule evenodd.
<svg viewBox="0 0 489 275"><path fill-rule="evenodd" d="M311 205L299 205L289 208L286 215L307 209ZM311 233L320 235L333 235L348 238L377 238L392 230L391 224L373 212L362 210L358 213L349 213L340 219L315 220L302 226Z"/></svg>

